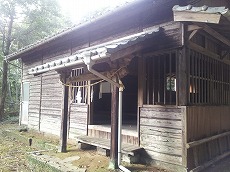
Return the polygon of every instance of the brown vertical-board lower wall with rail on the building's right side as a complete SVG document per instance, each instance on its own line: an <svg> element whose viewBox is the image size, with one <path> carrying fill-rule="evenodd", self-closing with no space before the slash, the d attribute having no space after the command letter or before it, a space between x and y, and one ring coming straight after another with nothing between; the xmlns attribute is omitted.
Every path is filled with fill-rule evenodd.
<svg viewBox="0 0 230 172"><path fill-rule="evenodd" d="M230 131L230 106L187 107L187 142L196 142ZM188 167L193 169L230 150L229 135L188 149Z"/></svg>

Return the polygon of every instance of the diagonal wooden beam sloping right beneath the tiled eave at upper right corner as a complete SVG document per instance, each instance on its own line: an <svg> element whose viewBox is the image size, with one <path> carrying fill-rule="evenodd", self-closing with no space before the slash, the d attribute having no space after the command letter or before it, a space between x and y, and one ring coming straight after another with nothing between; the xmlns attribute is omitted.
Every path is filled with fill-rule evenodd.
<svg viewBox="0 0 230 172"><path fill-rule="evenodd" d="M210 34L211 36L213 36L214 38L216 38L220 42L222 42L225 45L230 47L230 40L229 39L225 38L223 35L219 34L218 32L216 32L215 30L213 30L211 27L209 27L206 24L197 23L197 25L202 27L205 32L207 32L208 34Z"/></svg>

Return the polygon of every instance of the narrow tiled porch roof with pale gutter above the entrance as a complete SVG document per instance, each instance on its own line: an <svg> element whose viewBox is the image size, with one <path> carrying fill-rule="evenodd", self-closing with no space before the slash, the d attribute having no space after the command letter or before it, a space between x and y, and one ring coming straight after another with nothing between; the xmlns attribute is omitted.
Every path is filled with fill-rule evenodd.
<svg viewBox="0 0 230 172"><path fill-rule="evenodd" d="M120 39L109 41L96 46L88 47L77 51L74 55L69 57L61 58L43 65L36 66L29 69L29 74L40 74L50 70L57 70L66 67L83 65L86 57L90 57L93 61L101 60L110 57L113 53L118 52L124 48L135 45L142 42L155 34L159 33L158 29L152 29L130 36L126 36Z"/></svg>

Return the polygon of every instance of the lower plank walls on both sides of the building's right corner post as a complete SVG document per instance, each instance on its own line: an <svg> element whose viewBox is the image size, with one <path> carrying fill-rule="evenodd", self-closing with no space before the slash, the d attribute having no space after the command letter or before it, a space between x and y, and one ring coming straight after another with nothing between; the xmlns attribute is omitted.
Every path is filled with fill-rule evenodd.
<svg viewBox="0 0 230 172"><path fill-rule="evenodd" d="M140 146L145 162L201 171L230 155L229 106L140 108Z"/></svg>

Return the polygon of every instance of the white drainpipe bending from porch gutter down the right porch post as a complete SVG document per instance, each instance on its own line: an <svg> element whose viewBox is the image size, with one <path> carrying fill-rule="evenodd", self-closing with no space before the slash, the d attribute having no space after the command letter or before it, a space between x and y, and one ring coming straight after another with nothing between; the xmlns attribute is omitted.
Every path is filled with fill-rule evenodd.
<svg viewBox="0 0 230 172"><path fill-rule="evenodd" d="M118 98L118 167L120 170L122 170L123 172L131 172L130 170L128 170L127 168L125 168L124 166L121 165L121 141L122 141L122 92L124 90L124 85L121 82L121 80L119 80L119 83L114 82L113 80L107 78L106 76L100 74L99 72L97 72L96 70L94 70L92 68L92 66L95 64L94 61L92 61L91 56L87 55L84 58L84 63L87 65L88 71L90 71L92 74L98 76L99 78L109 82L112 85L115 85L119 88L119 98Z"/></svg>

